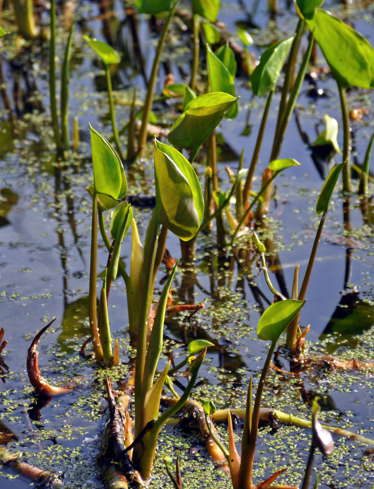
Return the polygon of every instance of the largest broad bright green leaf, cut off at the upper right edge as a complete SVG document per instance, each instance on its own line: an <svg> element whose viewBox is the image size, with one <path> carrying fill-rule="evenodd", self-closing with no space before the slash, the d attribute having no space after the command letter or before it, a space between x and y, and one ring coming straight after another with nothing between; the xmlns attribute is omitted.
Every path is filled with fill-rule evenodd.
<svg viewBox="0 0 374 489"><path fill-rule="evenodd" d="M339 85L374 87L374 49L363 36L323 9L306 22Z"/></svg>

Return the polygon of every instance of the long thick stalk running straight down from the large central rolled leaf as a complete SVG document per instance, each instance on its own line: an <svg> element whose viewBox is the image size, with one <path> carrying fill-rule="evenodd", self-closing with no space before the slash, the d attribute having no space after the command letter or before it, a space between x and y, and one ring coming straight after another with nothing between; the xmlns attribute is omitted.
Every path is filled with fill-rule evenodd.
<svg viewBox="0 0 374 489"><path fill-rule="evenodd" d="M158 223L157 213L154 211L149 221L144 242L144 261L142 265L141 281L142 281L142 297L138 298L140 303L140 316L138 326L138 343L137 343L137 358L135 369L135 437L139 435L143 428L142 415L145 399L142 396L142 385L145 365L145 355L147 351L147 323L148 313L151 306L153 289L153 267L155 263L155 255L157 241L159 235L160 224Z"/></svg>

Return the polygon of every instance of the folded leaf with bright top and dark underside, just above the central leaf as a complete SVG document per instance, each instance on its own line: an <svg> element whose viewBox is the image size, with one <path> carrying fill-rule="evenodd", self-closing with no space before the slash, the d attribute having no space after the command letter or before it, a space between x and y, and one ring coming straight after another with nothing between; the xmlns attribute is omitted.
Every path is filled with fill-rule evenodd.
<svg viewBox="0 0 374 489"><path fill-rule="evenodd" d="M173 124L167 136L169 142L177 148L197 151L236 100L223 92L205 93L191 100Z"/></svg>

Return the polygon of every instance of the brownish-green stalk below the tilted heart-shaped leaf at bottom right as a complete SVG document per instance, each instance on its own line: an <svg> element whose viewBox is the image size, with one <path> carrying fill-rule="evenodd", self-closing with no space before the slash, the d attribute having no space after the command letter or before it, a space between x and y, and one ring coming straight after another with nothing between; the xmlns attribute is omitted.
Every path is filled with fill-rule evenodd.
<svg viewBox="0 0 374 489"><path fill-rule="evenodd" d="M269 371L271 358L273 356L276 345L277 345L277 340L273 341L270 346L269 352L265 360L265 364L261 372L261 377L257 385L255 404L253 406L252 426L251 426L251 434L249 436L248 452L244 453L243 448L241 452L240 480L241 480L242 488L250 488L252 484L252 471L253 471L253 462L255 460L258 420L260 417L262 393L265 386L266 376Z"/></svg>

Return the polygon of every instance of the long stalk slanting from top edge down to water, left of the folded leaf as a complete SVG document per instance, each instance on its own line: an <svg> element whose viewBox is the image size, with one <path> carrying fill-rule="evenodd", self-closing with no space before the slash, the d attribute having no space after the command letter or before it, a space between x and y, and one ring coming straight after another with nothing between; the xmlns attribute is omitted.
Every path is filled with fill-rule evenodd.
<svg viewBox="0 0 374 489"><path fill-rule="evenodd" d="M147 142L149 115L150 115L151 109L152 109L153 94L155 91L156 78L157 78L157 73L159 71L159 66L160 66L161 53L164 49L167 31L169 29L171 19L174 16L174 12L175 12L175 8L177 6L177 3L178 3L178 0L174 0L172 6L170 8L169 16L167 18L167 21L165 22L160 41L157 45L155 57L153 59L152 71L151 71L151 76L148 80L148 89L147 89L147 94L145 97L144 108L143 108L143 117L141 120L141 127L140 127L140 133L139 133L139 140L138 140L139 141L139 143L138 143L139 156L142 155L144 148L145 148L145 144Z"/></svg>

